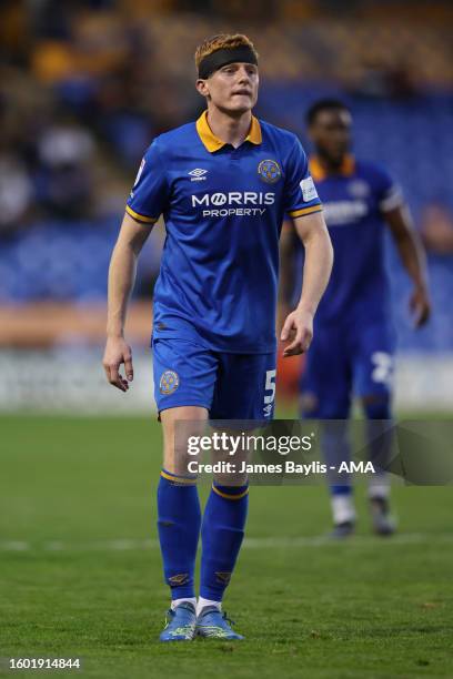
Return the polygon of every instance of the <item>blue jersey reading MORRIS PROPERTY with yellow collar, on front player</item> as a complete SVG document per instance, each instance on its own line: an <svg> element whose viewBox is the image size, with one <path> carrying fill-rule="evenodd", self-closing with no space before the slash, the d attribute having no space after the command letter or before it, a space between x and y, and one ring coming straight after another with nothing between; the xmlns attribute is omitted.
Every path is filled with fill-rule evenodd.
<svg viewBox="0 0 453 679"><path fill-rule="evenodd" d="M239 149L207 113L157 138L127 211L167 239L154 288L154 337L233 353L275 348L279 236L284 214L321 210L305 153L290 132L252 119Z"/></svg>

